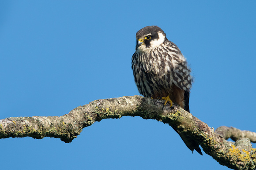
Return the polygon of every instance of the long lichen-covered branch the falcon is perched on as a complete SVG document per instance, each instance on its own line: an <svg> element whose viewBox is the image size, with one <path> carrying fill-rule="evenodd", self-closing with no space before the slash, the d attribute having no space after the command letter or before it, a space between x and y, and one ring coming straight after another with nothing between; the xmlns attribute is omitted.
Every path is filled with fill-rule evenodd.
<svg viewBox="0 0 256 170"><path fill-rule="evenodd" d="M216 134L206 123L181 107L173 106L172 109L163 107L163 101L141 96L95 100L60 117L33 116L1 119L0 138L55 137L64 142L71 142L84 127L96 121L117 119L122 116L140 116L143 119L156 119L168 123L181 133L191 136L199 142L205 153L221 165L237 170L256 169L256 149L252 148L248 138L239 139L233 145L222 137L226 135ZM248 137L248 135L241 137Z"/></svg>

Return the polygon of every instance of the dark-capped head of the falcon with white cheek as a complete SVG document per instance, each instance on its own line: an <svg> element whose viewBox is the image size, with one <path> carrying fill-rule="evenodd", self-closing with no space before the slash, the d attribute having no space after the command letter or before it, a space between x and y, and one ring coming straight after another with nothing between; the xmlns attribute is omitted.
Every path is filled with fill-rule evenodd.
<svg viewBox="0 0 256 170"><path fill-rule="evenodd" d="M136 51L147 51L166 41L166 33L158 26L146 26L136 33Z"/></svg>

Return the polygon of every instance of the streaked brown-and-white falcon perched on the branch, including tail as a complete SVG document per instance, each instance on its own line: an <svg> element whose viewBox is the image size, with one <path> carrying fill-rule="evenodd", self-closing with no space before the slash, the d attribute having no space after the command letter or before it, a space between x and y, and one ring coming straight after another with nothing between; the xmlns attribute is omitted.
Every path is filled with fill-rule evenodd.
<svg viewBox="0 0 256 170"><path fill-rule="evenodd" d="M144 97L166 100L189 112L189 95L193 76L177 45L156 25L146 26L136 33L136 48L132 55L132 70L139 93ZM197 141L180 135L187 147L203 155Z"/></svg>

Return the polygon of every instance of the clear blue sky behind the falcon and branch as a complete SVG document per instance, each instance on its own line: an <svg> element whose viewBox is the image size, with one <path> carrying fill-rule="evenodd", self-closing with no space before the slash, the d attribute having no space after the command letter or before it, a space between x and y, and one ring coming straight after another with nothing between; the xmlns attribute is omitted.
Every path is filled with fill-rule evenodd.
<svg viewBox="0 0 256 170"><path fill-rule="evenodd" d="M190 111L215 129L256 131L256 1L2 0L0 119L61 116L90 101L139 95L135 34L158 25L195 77ZM226 170L174 130L140 117L105 119L65 144L1 139L1 169ZM256 148L256 145L253 144Z"/></svg>

